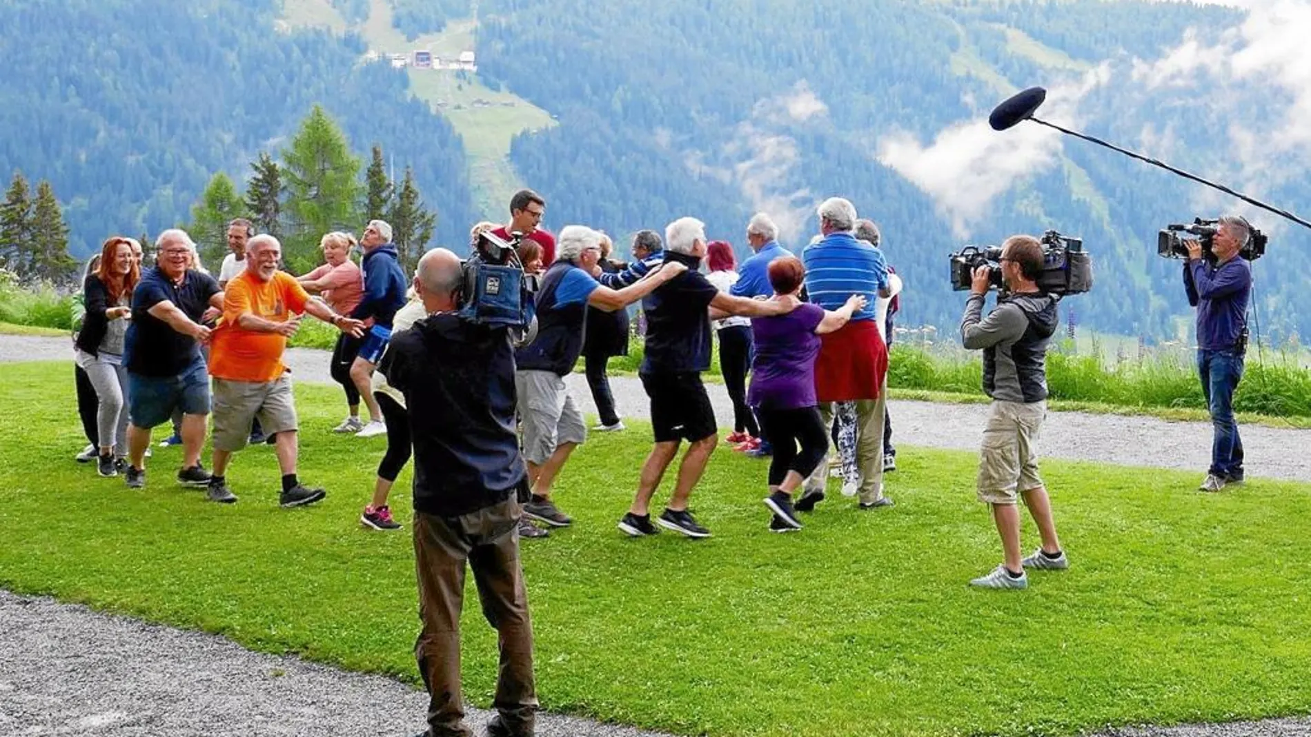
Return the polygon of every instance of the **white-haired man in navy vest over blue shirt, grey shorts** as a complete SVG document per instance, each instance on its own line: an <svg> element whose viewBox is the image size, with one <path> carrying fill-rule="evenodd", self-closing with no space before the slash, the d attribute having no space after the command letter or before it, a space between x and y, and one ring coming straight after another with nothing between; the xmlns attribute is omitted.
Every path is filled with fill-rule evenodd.
<svg viewBox="0 0 1311 737"><path fill-rule="evenodd" d="M565 386L582 353L589 309L614 312L645 297L687 270L670 263L623 289L602 287L591 276L600 259L600 233L583 225L560 230L556 262L536 295L538 336L515 352L514 384L523 423L523 457L528 462L532 499L527 517L553 528L573 520L551 500L551 484L569 454L587 439L582 414Z"/></svg>

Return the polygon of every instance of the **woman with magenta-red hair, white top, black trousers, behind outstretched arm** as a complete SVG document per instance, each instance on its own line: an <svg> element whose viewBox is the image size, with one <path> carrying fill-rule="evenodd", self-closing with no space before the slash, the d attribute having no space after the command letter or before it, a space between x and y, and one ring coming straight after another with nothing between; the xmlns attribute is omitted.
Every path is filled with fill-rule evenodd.
<svg viewBox="0 0 1311 737"><path fill-rule="evenodd" d="M705 262L711 272L705 279L725 295L738 280L737 259L728 241L711 241L705 246ZM733 399L733 432L725 442L735 450L755 450L760 446L760 428L751 407L746 403L746 372L751 368L751 318L726 317L713 322L720 336L720 373L724 386Z"/></svg>

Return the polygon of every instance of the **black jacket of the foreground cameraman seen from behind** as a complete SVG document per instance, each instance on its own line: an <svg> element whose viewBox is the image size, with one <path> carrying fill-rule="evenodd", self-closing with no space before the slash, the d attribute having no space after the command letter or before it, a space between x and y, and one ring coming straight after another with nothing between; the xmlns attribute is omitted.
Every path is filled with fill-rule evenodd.
<svg viewBox="0 0 1311 737"><path fill-rule="evenodd" d="M514 369L505 327L447 313L392 336L378 370L409 410L414 509L455 517L527 492Z"/></svg>

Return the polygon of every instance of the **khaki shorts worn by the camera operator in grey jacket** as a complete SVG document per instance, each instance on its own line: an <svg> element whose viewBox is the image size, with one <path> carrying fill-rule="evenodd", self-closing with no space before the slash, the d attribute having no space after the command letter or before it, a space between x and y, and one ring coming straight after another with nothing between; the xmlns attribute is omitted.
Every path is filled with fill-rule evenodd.
<svg viewBox="0 0 1311 737"><path fill-rule="evenodd" d="M992 401L979 450L979 500L1015 504L1016 496L1042 486L1038 476L1038 431L1046 402Z"/></svg>

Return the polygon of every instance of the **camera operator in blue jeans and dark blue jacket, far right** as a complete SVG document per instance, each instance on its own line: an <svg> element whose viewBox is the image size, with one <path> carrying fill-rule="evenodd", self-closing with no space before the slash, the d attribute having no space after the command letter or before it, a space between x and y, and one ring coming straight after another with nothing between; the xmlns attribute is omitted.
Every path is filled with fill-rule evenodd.
<svg viewBox="0 0 1311 737"><path fill-rule="evenodd" d="M1234 418L1234 390L1243 378L1247 352L1247 300L1252 293L1252 266L1239 255L1251 238L1251 226L1242 217L1221 217L1211 240L1215 263L1202 258L1202 243L1184 241L1184 289L1188 304L1197 308L1197 373L1202 395L1211 414L1215 437L1211 441L1211 467L1200 487L1219 491L1243 482L1243 441Z"/></svg>

